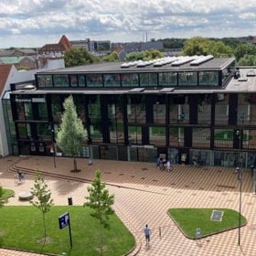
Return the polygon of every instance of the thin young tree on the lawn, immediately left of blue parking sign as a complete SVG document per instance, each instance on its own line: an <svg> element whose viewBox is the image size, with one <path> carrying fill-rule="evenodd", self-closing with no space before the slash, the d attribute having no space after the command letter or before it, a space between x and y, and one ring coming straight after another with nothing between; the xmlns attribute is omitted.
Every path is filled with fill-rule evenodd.
<svg viewBox="0 0 256 256"><path fill-rule="evenodd" d="M48 185L45 182L43 176L39 174L37 170L37 176L35 178L34 187L31 188L31 194L34 199L30 200L30 203L38 208L43 215L43 224L44 224L44 242L47 239L47 228L46 228L46 214L50 210L53 205L53 199L51 198L50 190L48 189ZM35 199L36 197L36 199Z"/></svg>

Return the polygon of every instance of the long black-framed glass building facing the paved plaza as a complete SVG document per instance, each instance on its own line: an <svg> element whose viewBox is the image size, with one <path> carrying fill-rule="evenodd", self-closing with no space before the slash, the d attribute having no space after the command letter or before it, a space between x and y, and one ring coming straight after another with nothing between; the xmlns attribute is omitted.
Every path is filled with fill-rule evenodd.
<svg viewBox="0 0 256 256"><path fill-rule="evenodd" d="M6 95L9 150L63 155L53 145L72 95L89 137L80 157L155 162L165 155L177 164L183 155L186 164L233 166L242 155L253 165L256 77L234 63L183 57L37 72L35 88L13 85Z"/></svg>

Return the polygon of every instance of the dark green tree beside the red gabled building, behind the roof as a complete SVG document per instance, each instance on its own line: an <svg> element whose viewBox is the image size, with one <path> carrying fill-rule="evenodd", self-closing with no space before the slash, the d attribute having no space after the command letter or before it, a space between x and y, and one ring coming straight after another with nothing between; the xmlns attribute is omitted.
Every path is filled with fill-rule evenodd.
<svg viewBox="0 0 256 256"><path fill-rule="evenodd" d="M66 67L72 67L99 62L99 59L86 48L71 48L65 52L64 61Z"/></svg>

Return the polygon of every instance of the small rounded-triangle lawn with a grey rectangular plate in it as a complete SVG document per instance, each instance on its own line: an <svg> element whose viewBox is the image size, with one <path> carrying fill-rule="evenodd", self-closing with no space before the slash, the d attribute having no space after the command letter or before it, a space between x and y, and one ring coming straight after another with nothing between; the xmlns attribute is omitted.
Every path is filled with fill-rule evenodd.
<svg viewBox="0 0 256 256"><path fill-rule="evenodd" d="M223 211L221 221L211 220L212 210ZM235 229L239 227L239 212L228 208L171 208L168 210L171 218L189 239L196 239L196 230L201 229L201 237ZM241 226L246 219L241 215Z"/></svg>

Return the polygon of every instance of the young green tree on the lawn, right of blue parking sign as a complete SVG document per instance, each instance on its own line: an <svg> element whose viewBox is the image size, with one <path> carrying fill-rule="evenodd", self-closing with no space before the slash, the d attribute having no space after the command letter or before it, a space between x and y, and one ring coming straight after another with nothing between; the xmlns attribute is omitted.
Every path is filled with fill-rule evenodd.
<svg viewBox="0 0 256 256"><path fill-rule="evenodd" d="M112 205L114 202L113 195L109 195L109 191L105 189L105 183L101 183L101 171L96 170L95 177L92 181L91 187L88 187L89 197L85 197L87 202L84 203L84 207L87 206L93 209L91 216L96 218L100 222L100 247L101 255L103 251L103 228L109 228L109 216L114 213Z"/></svg>

